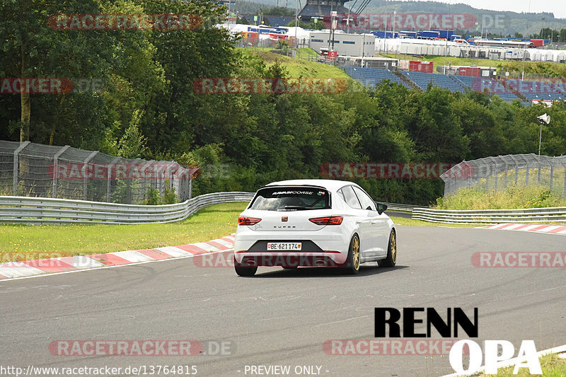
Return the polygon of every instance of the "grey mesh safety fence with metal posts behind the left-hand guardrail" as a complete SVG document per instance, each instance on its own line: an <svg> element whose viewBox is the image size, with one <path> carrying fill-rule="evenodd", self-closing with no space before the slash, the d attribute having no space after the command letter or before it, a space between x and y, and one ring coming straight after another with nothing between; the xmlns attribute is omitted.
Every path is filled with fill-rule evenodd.
<svg viewBox="0 0 566 377"><path fill-rule="evenodd" d="M141 204L173 190L191 197L198 168L109 156L71 146L0 141L0 195Z"/></svg>

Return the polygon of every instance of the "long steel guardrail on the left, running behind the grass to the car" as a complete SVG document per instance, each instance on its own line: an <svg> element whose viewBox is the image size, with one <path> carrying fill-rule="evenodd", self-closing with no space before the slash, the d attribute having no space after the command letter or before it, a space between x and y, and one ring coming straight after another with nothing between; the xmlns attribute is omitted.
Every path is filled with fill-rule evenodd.
<svg viewBox="0 0 566 377"><path fill-rule="evenodd" d="M168 223L211 204L249 202L253 192L214 192L186 202L158 206L87 202L38 197L1 197L0 223L20 224L144 224Z"/></svg>

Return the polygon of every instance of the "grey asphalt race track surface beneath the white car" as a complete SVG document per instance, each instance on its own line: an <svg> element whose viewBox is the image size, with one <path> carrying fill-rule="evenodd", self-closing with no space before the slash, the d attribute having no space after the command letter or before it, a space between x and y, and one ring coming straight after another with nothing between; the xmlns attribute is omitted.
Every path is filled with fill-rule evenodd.
<svg viewBox="0 0 566 377"><path fill-rule="evenodd" d="M565 236L400 227L398 248L397 267L371 263L355 276L260 268L243 278L231 267L197 267L185 258L0 282L0 365L195 365L197 376L259 375L246 373L246 365L289 365L291 376L295 366L321 366L321 376L451 372L448 356L323 352L326 340L374 340L375 307L439 313L461 307L470 316L477 307L480 345L509 340L519 349L521 340L534 340L542 350L566 344L565 268L470 262L478 251L566 251ZM232 341L233 348L223 356L53 356L48 347L55 340L218 340Z"/></svg>

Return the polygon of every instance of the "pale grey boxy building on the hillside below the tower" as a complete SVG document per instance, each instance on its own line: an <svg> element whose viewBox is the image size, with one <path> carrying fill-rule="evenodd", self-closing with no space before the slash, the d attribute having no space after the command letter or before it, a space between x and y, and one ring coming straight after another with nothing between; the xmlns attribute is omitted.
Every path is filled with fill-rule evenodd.
<svg viewBox="0 0 566 377"><path fill-rule="evenodd" d="M338 56L373 57L376 53L376 37L373 34L347 34L336 31L334 41L330 31L313 31L308 47L320 53L336 51Z"/></svg>

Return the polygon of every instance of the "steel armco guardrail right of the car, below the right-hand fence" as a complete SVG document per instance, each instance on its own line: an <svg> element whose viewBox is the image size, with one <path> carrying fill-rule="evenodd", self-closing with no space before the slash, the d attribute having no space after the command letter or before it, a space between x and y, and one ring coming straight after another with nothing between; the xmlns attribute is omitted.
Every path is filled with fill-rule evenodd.
<svg viewBox="0 0 566 377"><path fill-rule="evenodd" d="M498 224L565 222L566 207L527 209L449 210L415 208L412 219L450 224Z"/></svg>

